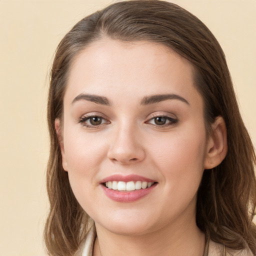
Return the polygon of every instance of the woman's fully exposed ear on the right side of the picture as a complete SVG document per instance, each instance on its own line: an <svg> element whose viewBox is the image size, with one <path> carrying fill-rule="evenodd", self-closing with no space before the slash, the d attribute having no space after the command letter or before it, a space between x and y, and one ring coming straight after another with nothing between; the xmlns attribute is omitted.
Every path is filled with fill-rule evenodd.
<svg viewBox="0 0 256 256"><path fill-rule="evenodd" d="M207 141L204 169L211 169L222 162L227 153L226 125L222 116L217 116L211 126Z"/></svg>

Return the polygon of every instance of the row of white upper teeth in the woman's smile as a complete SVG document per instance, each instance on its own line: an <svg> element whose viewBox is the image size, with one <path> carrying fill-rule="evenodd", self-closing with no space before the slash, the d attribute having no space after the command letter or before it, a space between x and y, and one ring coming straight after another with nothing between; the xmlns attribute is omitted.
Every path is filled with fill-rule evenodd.
<svg viewBox="0 0 256 256"><path fill-rule="evenodd" d="M119 191L133 191L137 189L145 189L147 187L150 187L153 184L153 182L146 182L146 181L107 181L105 182L106 187L114 190Z"/></svg>

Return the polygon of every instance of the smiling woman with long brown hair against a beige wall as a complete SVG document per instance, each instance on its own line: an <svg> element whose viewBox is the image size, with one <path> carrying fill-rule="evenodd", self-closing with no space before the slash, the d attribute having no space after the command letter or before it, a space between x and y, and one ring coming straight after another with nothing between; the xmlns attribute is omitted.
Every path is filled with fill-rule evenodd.
<svg viewBox="0 0 256 256"><path fill-rule="evenodd" d="M112 4L58 45L49 255L253 255L255 154L224 54L165 1Z"/></svg>

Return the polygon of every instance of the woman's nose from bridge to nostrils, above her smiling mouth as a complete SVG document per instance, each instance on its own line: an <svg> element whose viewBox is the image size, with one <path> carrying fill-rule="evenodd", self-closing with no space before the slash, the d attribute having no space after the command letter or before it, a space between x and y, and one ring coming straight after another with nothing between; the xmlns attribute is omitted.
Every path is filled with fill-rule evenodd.
<svg viewBox="0 0 256 256"><path fill-rule="evenodd" d="M140 162L145 157L141 137L134 127L118 127L113 131L107 157L120 164L131 164Z"/></svg>

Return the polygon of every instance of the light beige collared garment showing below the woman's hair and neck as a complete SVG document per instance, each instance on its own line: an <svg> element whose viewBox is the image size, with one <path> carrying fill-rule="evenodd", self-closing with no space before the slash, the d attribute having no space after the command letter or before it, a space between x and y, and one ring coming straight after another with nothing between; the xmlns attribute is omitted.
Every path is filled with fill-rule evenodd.
<svg viewBox="0 0 256 256"><path fill-rule="evenodd" d="M93 226L87 233L86 240L82 244L81 248L75 253L74 256L92 256L92 250L94 241L96 238L96 230ZM225 247L220 244L216 243L212 240L209 240L208 251L205 253L207 256L222 256L223 251L227 251L226 256L253 256L250 249L247 247L243 250L231 250L225 249Z"/></svg>

